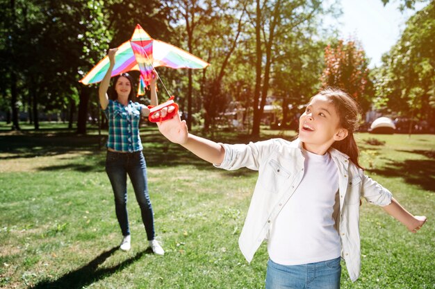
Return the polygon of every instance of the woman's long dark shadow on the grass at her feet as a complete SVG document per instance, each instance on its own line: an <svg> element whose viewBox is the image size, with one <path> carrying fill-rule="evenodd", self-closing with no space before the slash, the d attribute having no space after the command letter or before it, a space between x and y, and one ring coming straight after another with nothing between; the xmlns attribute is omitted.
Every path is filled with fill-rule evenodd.
<svg viewBox="0 0 435 289"><path fill-rule="evenodd" d="M99 281L109 277L111 274L117 272L118 270L123 270L132 263L138 261L145 254L151 254L151 249L146 249L145 251L138 252L135 256L130 259L126 259L122 263L115 265L110 268L98 269L98 266L104 263L108 257L110 257L119 247L113 247L112 249L101 253L94 260L90 261L88 264L84 265L82 268L69 272L63 277L60 277L54 281L41 281L31 289L42 289L42 288L70 288L78 289L88 286L90 283Z"/></svg>

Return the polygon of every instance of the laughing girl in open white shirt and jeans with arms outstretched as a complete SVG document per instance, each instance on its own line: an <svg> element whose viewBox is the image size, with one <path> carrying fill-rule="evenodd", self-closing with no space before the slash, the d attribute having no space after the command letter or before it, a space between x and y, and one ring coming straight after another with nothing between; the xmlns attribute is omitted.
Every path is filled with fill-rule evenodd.
<svg viewBox="0 0 435 289"><path fill-rule="evenodd" d="M411 232L426 221L364 175L353 137L358 116L350 96L326 89L311 98L299 118L299 136L291 142L215 143L189 134L179 118L158 123L158 128L216 167L258 170L239 245L249 262L268 239L265 288L339 288L340 257L352 281L359 277L361 197L383 207Z"/></svg>

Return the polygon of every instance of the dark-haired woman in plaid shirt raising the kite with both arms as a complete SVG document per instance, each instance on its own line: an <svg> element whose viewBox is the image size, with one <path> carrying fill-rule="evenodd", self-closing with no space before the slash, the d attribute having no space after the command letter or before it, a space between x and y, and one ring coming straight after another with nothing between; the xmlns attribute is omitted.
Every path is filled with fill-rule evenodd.
<svg viewBox="0 0 435 289"><path fill-rule="evenodd" d="M128 73L122 73L114 80L109 100L107 90L110 75L115 65L117 49L110 49L108 58L110 66L99 87L99 101L108 119L108 141L106 173L115 195L115 212L122 231L120 249L131 248L129 216L127 213L126 177L130 176L138 201L142 222L147 232L149 246L155 254L163 255L165 251L154 239L154 216L148 194L147 164L142 154L142 141L139 135L140 116L148 116L149 109L140 103L133 103L133 79ZM151 80L151 105L157 105L156 79Z"/></svg>

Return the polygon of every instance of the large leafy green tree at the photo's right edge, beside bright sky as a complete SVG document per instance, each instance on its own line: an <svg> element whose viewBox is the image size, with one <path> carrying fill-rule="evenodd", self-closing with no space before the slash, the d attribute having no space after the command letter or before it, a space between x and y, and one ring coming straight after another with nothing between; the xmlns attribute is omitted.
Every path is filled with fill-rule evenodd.
<svg viewBox="0 0 435 289"><path fill-rule="evenodd" d="M435 125L434 26L432 1L407 21L400 40L383 55L375 83L377 107Z"/></svg>

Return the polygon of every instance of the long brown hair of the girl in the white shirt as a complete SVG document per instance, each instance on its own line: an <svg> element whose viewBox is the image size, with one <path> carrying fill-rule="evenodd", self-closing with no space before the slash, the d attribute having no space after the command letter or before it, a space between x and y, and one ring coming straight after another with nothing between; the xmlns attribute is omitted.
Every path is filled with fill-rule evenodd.
<svg viewBox="0 0 435 289"><path fill-rule="evenodd" d="M322 89L318 95L327 96L336 107L340 118L340 126L348 132L347 137L341 141L334 141L332 147L340 152L345 153L350 157L350 160L359 168L363 167L359 164L359 148L354 139L354 132L358 130L361 109L351 96L341 89L327 87Z"/></svg>

